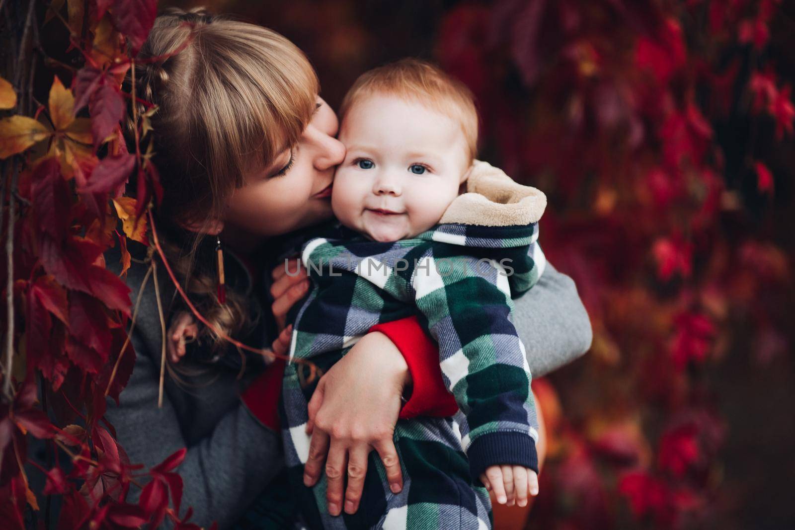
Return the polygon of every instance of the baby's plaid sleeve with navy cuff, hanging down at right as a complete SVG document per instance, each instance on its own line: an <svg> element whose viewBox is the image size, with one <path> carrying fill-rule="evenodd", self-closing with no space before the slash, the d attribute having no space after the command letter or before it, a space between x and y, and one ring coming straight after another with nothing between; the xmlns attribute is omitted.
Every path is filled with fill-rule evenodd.
<svg viewBox="0 0 795 530"><path fill-rule="evenodd" d="M423 257L412 276L420 321L439 344L444 383L463 412L456 419L471 476L505 464L537 471L535 404L508 277L500 265L487 273L479 265L457 256L443 275L432 253Z"/></svg>

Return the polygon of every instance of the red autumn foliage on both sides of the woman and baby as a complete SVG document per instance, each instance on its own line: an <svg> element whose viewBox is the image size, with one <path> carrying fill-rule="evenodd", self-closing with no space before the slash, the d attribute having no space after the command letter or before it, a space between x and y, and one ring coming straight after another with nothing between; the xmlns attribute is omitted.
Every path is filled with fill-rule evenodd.
<svg viewBox="0 0 795 530"><path fill-rule="evenodd" d="M147 212L161 195L147 136L157 109L141 102L149 110L131 116L134 149L120 128L140 101L124 81L156 2L0 6L16 54L0 78L0 521L138 528L169 518L192 528L189 513L176 516L184 451L143 470L103 420L135 358L126 242L149 244ZM710 374L738 327L770 358L787 349L793 319L792 257L770 219L782 188L774 155L791 144L795 118L766 53L780 9L498 0L440 14L436 60L475 93L483 157L549 196L542 244L576 280L594 325L586 360L536 383L549 459L532 528L688 527L712 514L731 431ZM324 21L339 19L312 24ZM52 25L68 29L79 64L46 56L41 33ZM360 32L324 45L346 57ZM103 257L117 245L122 277ZM34 440L47 466L29 458ZM71 466L58 463L64 455ZM32 468L44 489L31 489ZM142 488L138 503L126 501L130 488Z"/></svg>

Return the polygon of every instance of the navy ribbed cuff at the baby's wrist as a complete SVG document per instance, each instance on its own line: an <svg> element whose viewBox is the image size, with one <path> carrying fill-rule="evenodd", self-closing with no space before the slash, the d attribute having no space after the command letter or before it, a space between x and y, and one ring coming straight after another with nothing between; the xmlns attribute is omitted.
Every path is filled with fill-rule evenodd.
<svg viewBox="0 0 795 530"><path fill-rule="evenodd" d="M467 449L472 481L482 486L480 475L491 466L524 466L538 473L536 443L525 432L496 431L478 436Z"/></svg>

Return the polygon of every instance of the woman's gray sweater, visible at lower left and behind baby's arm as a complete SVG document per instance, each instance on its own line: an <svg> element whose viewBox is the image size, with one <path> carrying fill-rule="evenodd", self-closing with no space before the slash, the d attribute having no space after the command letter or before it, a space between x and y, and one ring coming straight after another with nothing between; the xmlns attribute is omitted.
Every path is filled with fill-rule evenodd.
<svg viewBox="0 0 795 530"><path fill-rule="evenodd" d="M246 268L231 253L226 256L227 284L247 293L252 307L261 307L258 296L251 293L252 282ZM118 253L111 250L106 260L108 268L115 267L118 272ZM146 269L147 265L133 262L127 273L133 300ZM161 296L168 310L173 288L162 266L158 272ZM270 278L270 274L266 277ZM576 287L552 265L515 304L515 325L525 343L533 375L549 373L590 347L591 324ZM271 320L262 327L273 330L270 311L262 315ZM168 319L167 314L167 325ZM269 335L261 331L262 343L257 346L270 344ZM192 506L192 522L208 527L217 520L219 528L228 528L283 466L279 435L260 423L239 399L241 390L262 367L250 363L238 381L239 367L235 363L188 365L187 370L198 369L200 373L181 374L182 383L167 374L163 407L157 408L161 325L151 279L142 295L132 343L137 358L130 381L121 394L120 405L108 401L106 417L116 428L118 441L130 462L147 468L187 447L188 454L177 469L184 479L183 513ZM238 354L231 356L236 358ZM185 362L180 362L180 367ZM130 489L130 497L135 498L138 493L137 488Z"/></svg>

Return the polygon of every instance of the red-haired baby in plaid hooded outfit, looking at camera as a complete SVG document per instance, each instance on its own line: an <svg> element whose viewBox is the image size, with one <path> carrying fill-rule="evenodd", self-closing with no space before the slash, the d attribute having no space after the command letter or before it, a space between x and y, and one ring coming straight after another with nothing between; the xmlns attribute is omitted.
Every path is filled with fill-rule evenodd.
<svg viewBox="0 0 795 530"><path fill-rule="evenodd" d="M471 93L425 62L366 72L340 115L339 225L301 248L313 288L290 315L289 356L328 369L370 327L417 315L439 343L460 412L398 421L405 487L392 493L371 459L359 513L330 516L324 482L301 481L314 386L301 385L302 365L289 363L280 412L299 503L312 528L491 528L480 484L501 502L506 490L518 498L538 490L537 422L512 299L545 265L536 244L545 196L475 161Z"/></svg>

